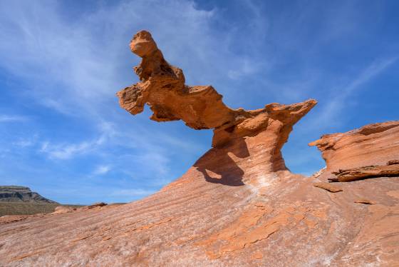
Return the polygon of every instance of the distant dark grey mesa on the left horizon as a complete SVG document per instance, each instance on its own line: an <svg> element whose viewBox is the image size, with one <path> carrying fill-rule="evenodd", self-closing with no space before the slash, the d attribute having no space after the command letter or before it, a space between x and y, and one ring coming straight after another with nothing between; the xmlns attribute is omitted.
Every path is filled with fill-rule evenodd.
<svg viewBox="0 0 399 267"><path fill-rule="evenodd" d="M56 203L25 186L0 186L1 202Z"/></svg>

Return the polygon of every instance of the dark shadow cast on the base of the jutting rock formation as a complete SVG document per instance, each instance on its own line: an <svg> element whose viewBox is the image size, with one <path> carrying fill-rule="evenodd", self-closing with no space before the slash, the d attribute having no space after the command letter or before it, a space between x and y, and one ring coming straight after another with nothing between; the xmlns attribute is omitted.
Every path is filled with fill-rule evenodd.
<svg viewBox="0 0 399 267"><path fill-rule="evenodd" d="M225 186L244 186L244 171L229 156L232 153L239 158L247 158L249 151L244 138L237 138L225 146L212 148L194 164L209 183L220 183Z"/></svg>

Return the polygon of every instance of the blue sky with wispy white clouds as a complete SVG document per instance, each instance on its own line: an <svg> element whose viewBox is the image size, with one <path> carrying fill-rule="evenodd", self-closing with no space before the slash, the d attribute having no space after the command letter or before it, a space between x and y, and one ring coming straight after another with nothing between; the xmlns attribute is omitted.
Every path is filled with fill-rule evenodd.
<svg viewBox="0 0 399 267"><path fill-rule="evenodd" d="M280 3L281 2L281 3ZM399 1L0 1L0 184L61 203L125 202L185 173L212 131L131 116L128 47L147 29L187 84L232 108L314 98L283 148L325 163L324 133L399 117Z"/></svg>

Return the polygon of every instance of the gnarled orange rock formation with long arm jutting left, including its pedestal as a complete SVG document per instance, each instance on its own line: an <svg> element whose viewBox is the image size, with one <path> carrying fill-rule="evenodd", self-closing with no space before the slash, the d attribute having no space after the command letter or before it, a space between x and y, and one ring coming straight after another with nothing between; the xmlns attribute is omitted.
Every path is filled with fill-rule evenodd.
<svg viewBox="0 0 399 267"><path fill-rule="evenodd" d="M223 176L220 181L243 178L252 168L264 173L286 170L281 147L316 101L274 103L253 111L230 109L212 86L185 85L183 71L165 61L149 32L135 34L130 49L142 58L135 67L140 82L118 92L120 106L135 115L147 104L154 121L182 120L192 129L214 129L214 149L195 164L206 178L207 170Z"/></svg>

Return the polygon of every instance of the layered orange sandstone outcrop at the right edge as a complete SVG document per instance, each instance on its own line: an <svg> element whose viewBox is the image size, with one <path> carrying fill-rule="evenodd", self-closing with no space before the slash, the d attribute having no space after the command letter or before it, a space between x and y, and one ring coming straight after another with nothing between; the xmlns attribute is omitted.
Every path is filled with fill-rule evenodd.
<svg viewBox="0 0 399 267"><path fill-rule="evenodd" d="M399 121L387 121L346 133L326 134L309 146L317 146L326 161L322 177L352 181L397 175L398 165L393 163L399 159L398 140Z"/></svg>

